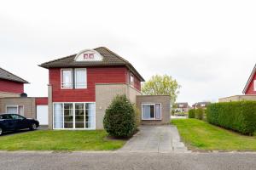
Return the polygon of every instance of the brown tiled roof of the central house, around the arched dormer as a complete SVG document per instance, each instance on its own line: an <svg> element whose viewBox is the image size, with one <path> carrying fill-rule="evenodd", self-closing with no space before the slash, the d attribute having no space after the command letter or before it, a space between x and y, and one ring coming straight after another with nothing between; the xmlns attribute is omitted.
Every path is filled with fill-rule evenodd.
<svg viewBox="0 0 256 170"><path fill-rule="evenodd" d="M126 66L140 79L140 81L145 81L137 70L131 65L131 63L120 57L118 54L113 53L113 51L105 47L95 48L94 50L103 56L102 61L75 61L74 58L77 54L73 54L60 59L51 60L39 66L47 69L58 67Z"/></svg>

